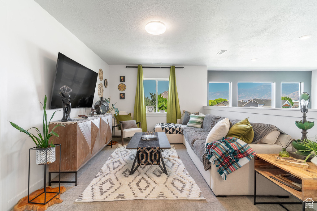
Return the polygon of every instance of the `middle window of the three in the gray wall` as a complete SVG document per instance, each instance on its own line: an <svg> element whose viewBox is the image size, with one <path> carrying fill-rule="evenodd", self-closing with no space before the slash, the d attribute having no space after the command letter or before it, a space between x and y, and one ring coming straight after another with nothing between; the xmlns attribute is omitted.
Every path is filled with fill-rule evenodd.
<svg viewBox="0 0 317 211"><path fill-rule="evenodd" d="M272 82L238 82L238 107L272 108Z"/></svg>

